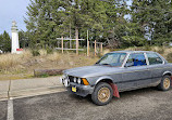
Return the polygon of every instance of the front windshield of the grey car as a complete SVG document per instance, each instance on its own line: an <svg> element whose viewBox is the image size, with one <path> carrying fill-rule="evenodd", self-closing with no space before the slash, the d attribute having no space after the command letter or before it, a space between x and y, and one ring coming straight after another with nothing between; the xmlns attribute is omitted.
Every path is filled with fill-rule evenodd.
<svg viewBox="0 0 172 120"><path fill-rule="evenodd" d="M126 53L108 53L101 57L96 64L109 66L122 66Z"/></svg>

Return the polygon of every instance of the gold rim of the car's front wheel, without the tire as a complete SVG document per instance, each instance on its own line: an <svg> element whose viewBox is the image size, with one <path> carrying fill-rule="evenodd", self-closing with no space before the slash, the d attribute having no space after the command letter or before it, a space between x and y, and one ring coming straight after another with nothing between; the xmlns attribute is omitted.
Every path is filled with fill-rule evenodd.
<svg viewBox="0 0 172 120"><path fill-rule="evenodd" d="M108 88L101 88L99 91L98 91L98 99L101 102L101 103L105 103L109 99L110 97L110 90Z"/></svg>

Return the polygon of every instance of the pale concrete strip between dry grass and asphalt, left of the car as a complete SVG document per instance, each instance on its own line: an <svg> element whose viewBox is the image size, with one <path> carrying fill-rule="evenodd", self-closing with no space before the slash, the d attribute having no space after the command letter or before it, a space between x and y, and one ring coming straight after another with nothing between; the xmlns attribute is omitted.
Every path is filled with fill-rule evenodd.
<svg viewBox="0 0 172 120"><path fill-rule="evenodd" d="M59 80L60 76L0 81L0 101L10 97L27 97L65 91Z"/></svg>

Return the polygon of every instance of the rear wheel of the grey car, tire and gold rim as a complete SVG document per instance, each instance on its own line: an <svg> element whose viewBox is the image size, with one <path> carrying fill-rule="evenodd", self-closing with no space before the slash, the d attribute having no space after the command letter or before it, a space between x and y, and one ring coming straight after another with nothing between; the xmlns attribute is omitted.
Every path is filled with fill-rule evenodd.
<svg viewBox="0 0 172 120"><path fill-rule="evenodd" d="M163 76L161 82L158 85L158 89L161 91L168 91L171 86L170 76Z"/></svg>

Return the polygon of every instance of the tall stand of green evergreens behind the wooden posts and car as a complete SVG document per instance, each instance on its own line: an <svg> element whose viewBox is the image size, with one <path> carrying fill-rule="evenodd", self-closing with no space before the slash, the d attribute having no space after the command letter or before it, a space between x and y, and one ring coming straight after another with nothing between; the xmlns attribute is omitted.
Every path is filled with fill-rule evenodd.
<svg viewBox="0 0 172 120"><path fill-rule="evenodd" d="M28 44L54 48L61 36L86 39L87 29L89 40L112 49L172 41L171 0L132 0L132 5L126 1L30 0L25 18Z"/></svg>

